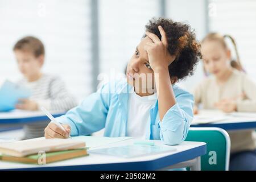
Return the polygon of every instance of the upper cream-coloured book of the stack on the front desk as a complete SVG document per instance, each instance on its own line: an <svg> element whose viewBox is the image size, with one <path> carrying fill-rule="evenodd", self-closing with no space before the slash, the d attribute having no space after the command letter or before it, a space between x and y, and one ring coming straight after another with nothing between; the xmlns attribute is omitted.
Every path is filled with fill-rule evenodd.
<svg viewBox="0 0 256 182"><path fill-rule="evenodd" d="M15 142L0 142L0 153L22 157L40 151L64 151L85 147L85 142L72 139L29 139Z"/></svg>

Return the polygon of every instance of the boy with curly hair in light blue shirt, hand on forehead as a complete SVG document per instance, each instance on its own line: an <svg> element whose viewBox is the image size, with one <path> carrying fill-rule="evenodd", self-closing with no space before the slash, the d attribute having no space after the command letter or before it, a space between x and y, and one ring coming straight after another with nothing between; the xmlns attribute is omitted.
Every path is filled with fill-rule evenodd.
<svg viewBox="0 0 256 182"><path fill-rule="evenodd" d="M181 143L193 118L193 96L175 82L192 75L200 56L188 24L164 18L150 20L127 65L127 80L102 86L81 105L56 118L66 131L49 123L45 137L86 135L105 127L106 137Z"/></svg>

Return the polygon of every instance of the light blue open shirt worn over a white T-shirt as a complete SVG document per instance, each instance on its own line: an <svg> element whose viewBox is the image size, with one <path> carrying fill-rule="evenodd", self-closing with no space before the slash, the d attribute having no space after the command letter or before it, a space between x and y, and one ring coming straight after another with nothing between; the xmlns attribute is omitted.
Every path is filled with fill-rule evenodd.
<svg viewBox="0 0 256 182"><path fill-rule="evenodd" d="M164 144L175 145L187 137L193 119L193 96L172 86L176 104L159 119L158 101L150 109L146 138L161 139ZM126 81L112 81L90 94L81 104L57 118L71 126L71 136L88 135L105 128L105 137L125 137L127 105L132 86Z"/></svg>

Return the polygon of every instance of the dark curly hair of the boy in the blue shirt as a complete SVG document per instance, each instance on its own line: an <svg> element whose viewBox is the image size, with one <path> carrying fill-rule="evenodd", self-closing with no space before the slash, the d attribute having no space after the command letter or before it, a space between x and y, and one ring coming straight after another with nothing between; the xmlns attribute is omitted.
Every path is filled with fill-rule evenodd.
<svg viewBox="0 0 256 182"><path fill-rule="evenodd" d="M169 53L176 55L174 62L169 65L170 77L182 80L193 75L195 65L201 59L200 43L196 41L195 31L188 24L165 18L151 19L146 25L146 31L161 39L158 26L162 26L166 32Z"/></svg>

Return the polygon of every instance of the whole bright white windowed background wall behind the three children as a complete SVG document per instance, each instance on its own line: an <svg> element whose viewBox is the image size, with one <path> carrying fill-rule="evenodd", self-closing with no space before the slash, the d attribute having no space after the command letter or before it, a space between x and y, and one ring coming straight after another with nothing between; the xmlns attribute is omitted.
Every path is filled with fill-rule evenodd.
<svg viewBox="0 0 256 182"><path fill-rule="evenodd" d="M159 16L188 22L198 40L212 31L232 35L254 78L255 10L253 0L0 0L0 84L21 77L12 48L32 35L46 47L43 71L61 76L81 101L97 90L102 74L124 72L145 24ZM199 63L180 84L190 90L202 77Z"/></svg>

